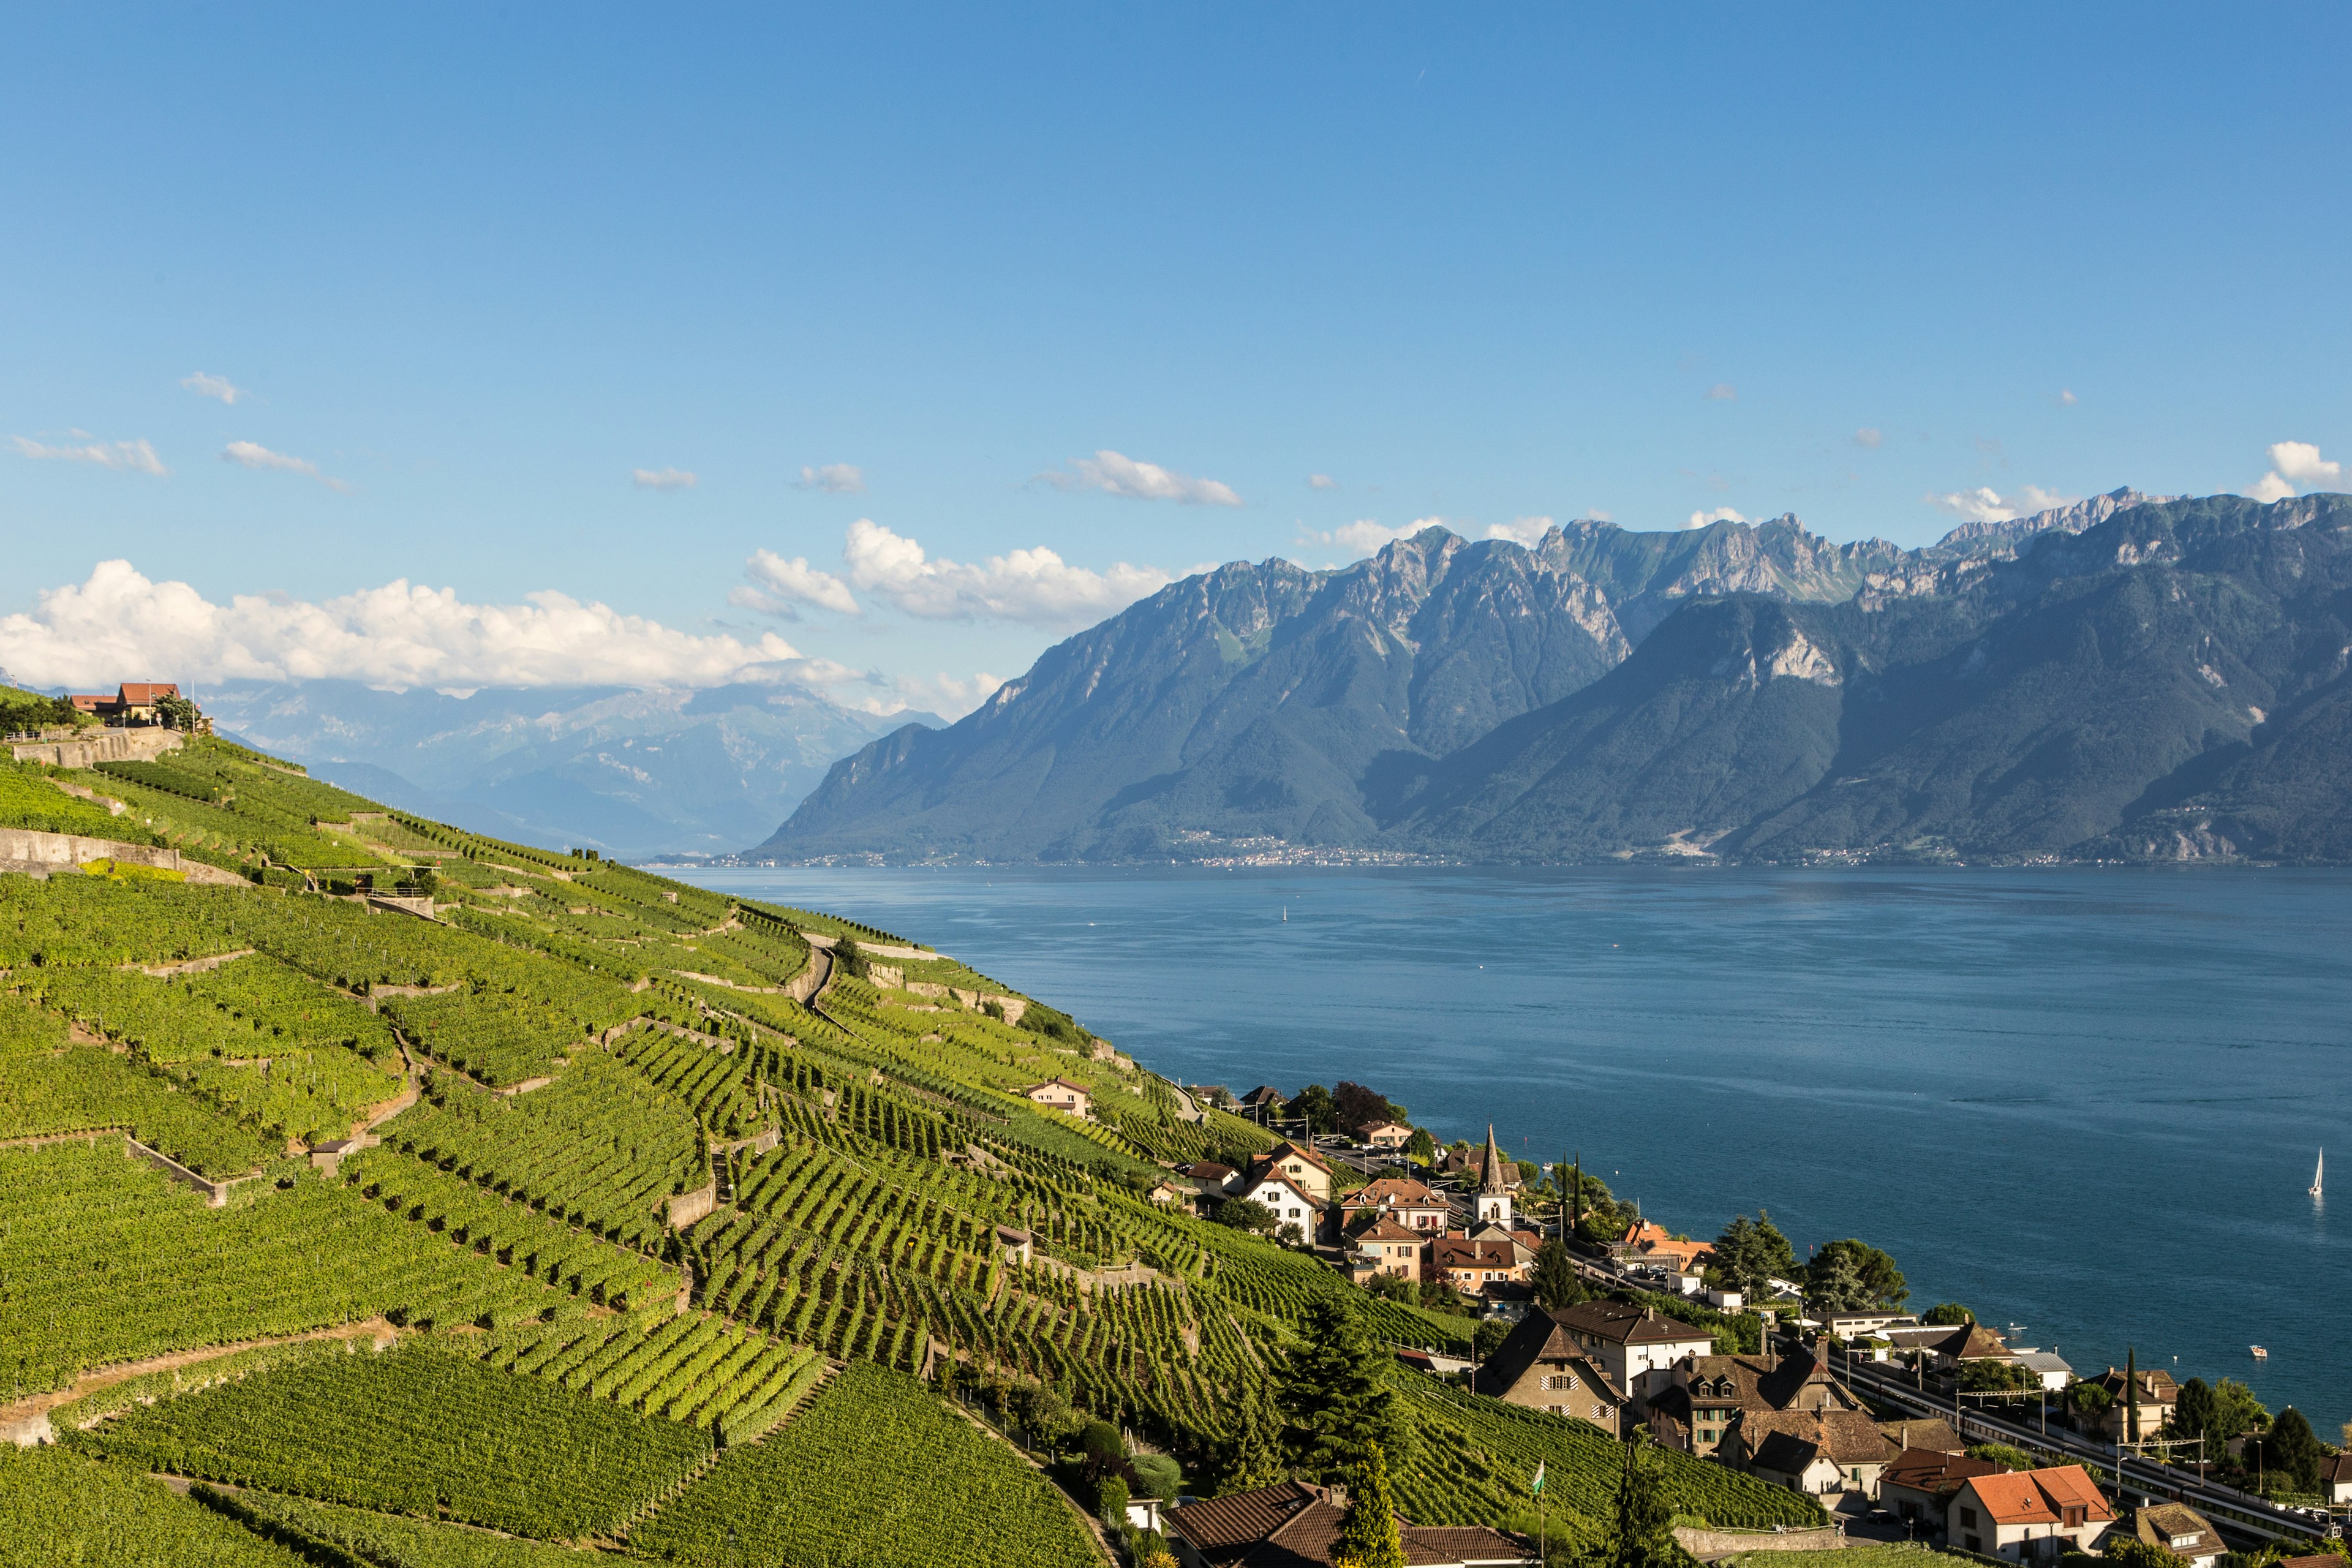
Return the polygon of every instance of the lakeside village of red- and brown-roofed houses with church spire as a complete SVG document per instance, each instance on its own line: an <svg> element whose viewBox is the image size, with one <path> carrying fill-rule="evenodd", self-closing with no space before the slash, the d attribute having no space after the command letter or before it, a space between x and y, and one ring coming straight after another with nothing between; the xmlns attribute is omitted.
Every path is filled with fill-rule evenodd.
<svg viewBox="0 0 2352 1568"><path fill-rule="evenodd" d="M1538 1166L1437 1147L1357 1084L1282 1095L1178 1086L1282 1140L1169 1171L1152 1201L1312 1251L1364 1291L1477 1321L1475 1354L1395 1347L1402 1363L1515 1406L1724 1465L1816 1497L1828 1540L1922 1542L1987 1561L2124 1559L2140 1568L2340 1568L2352 1450L2241 1382L2171 1371L2079 1373L2009 1345L1957 1305L1907 1309L1886 1253L1860 1241L1806 1265L1769 1215L1693 1241L1618 1204L1581 1161ZM1091 1114L1051 1079L1030 1100ZM1185 1563L1244 1561L1223 1500ZM1197 1535L1197 1540L1195 1540ZM1755 1542L1686 1540L1698 1556ZM1256 1561L1256 1559L1249 1559ZM1435 1559L1432 1559L1435 1561Z"/></svg>

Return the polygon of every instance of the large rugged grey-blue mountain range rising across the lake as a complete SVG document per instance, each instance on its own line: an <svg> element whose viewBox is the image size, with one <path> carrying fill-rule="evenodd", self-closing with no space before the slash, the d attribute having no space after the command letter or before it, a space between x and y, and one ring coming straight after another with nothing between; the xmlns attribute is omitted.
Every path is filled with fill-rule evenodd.
<svg viewBox="0 0 2352 1568"><path fill-rule="evenodd" d="M1228 564L844 757L750 858L2352 860L2352 498L2114 491Z"/></svg>

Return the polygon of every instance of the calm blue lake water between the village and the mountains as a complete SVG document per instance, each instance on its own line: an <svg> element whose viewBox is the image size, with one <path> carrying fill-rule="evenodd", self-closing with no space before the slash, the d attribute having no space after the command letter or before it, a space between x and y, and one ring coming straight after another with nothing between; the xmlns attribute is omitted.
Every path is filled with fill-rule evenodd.
<svg viewBox="0 0 2352 1568"><path fill-rule="evenodd" d="M1858 1234L2077 1371L2352 1418L2352 875L757 870L1150 1067L1491 1117L1675 1229ZM1282 912L1289 910L1289 922ZM2340 1213L2305 1187L2338 1147ZM2246 1349L2265 1345L2267 1363Z"/></svg>

